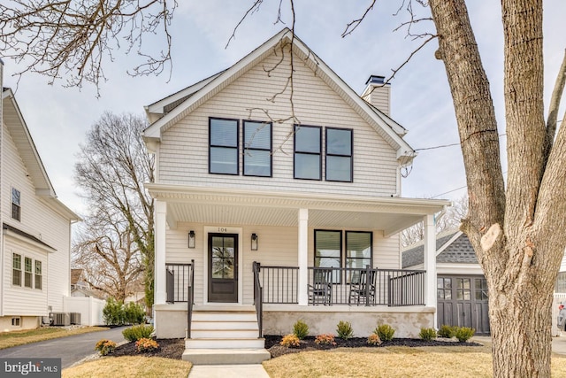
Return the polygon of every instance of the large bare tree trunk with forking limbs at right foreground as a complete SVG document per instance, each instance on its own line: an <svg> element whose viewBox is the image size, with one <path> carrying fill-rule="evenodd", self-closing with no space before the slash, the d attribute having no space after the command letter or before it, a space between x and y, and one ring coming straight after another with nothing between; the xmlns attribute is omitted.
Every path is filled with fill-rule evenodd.
<svg viewBox="0 0 566 378"><path fill-rule="evenodd" d="M444 61L454 98L470 197L462 229L489 287L493 375L548 377L552 294L566 243L566 182L560 168L566 143L561 130L547 155L542 2L502 1L507 192L489 83L464 0L430 4L439 35L436 55Z"/></svg>

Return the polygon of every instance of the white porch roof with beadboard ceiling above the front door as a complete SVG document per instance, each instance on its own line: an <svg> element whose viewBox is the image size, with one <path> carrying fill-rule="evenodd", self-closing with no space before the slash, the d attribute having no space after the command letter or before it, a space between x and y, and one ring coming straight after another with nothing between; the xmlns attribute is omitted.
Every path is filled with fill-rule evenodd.
<svg viewBox="0 0 566 378"><path fill-rule="evenodd" d="M313 228L378 229L392 235L427 214L440 212L446 200L395 197L265 193L244 189L181 187L150 183L146 188L167 203L167 221L223 225L298 225L298 210L309 209Z"/></svg>

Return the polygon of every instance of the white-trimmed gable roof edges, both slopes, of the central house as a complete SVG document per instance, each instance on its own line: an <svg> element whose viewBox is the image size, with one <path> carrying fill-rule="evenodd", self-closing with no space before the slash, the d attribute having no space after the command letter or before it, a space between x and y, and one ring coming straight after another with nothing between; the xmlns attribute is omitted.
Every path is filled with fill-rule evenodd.
<svg viewBox="0 0 566 378"><path fill-rule="evenodd" d="M406 134L405 128L358 96L354 89L351 89L342 81L329 66L326 66L322 59L318 58L287 27L225 71L216 73L203 81L199 81L186 89L181 89L171 96L146 106L149 121L153 122L143 132L146 143L150 145L159 141L165 130L182 120L187 114L210 99L210 97L225 89L226 86L237 80L243 73L256 66L264 58L267 58L272 54L273 49L291 42L293 43L292 48L295 56L301 58L307 66L316 71L317 77L325 81L331 89L396 150L397 159L403 166L408 165L416 156L416 152L402 139L402 136Z"/></svg>

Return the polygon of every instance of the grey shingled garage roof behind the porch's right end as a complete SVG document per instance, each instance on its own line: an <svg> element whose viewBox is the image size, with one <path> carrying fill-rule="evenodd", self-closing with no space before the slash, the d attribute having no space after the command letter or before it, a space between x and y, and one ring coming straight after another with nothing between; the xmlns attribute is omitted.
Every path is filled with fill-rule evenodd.
<svg viewBox="0 0 566 378"><path fill-rule="evenodd" d="M402 252L402 267L417 266L424 263L424 243ZM436 263L478 264L476 252L468 236L462 231L448 230L436 237Z"/></svg>

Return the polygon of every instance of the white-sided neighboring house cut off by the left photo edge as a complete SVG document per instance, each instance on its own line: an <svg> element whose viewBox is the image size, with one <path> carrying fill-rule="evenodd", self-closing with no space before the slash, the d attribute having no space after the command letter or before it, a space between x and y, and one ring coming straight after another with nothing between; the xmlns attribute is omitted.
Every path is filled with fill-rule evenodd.
<svg viewBox="0 0 566 378"><path fill-rule="evenodd" d="M0 78L2 68L0 61ZM0 331L9 331L64 311L79 217L57 200L13 92L2 79L0 88Z"/></svg>

